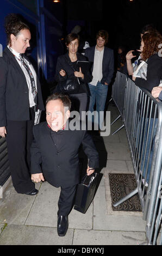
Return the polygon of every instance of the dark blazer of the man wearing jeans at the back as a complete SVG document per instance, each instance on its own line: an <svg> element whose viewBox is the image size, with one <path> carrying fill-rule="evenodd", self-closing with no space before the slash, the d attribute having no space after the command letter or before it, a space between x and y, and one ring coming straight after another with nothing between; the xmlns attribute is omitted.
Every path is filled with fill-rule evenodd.
<svg viewBox="0 0 162 256"><path fill-rule="evenodd" d="M96 46L92 46L85 49L85 56L88 57L88 60L90 62L94 62L95 47ZM91 71L93 71L93 68L94 68L94 65L92 65ZM104 84L104 82L106 82L110 84L114 75L114 51L108 47L104 47L103 61L102 61L102 74L103 74L103 77L102 77L101 83Z"/></svg>

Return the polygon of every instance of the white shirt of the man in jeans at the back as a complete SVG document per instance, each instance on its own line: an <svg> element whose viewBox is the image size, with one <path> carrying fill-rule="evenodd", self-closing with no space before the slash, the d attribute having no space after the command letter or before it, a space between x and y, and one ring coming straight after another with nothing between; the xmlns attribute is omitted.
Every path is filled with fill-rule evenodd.
<svg viewBox="0 0 162 256"><path fill-rule="evenodd" d="M98 51L97 48L95 47L95 56L94 56L94 69L92 71L92 76L93 79L90 82L93 86L97 85L97 82L101 82L102 80L102 60L103 60L103 52L104 48L102 51Z"/></svg>

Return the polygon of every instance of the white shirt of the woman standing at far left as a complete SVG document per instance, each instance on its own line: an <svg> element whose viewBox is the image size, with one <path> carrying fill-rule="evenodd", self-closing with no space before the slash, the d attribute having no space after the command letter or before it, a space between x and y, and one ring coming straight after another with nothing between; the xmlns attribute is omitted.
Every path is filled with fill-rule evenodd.
<svg viewBox="0 0 162 256"><path fill-rule="evenodd" d="M28 84L28 89L29 89L29 104L30 104L30 107L33 107L35 106L35 102L34 102L34 99L33 99L33 94L32 94L32 86L31 86L31 81L30 81L30 77L29 77L29 74L26 70L26 68L23 66L21 60L20 60L20 53L19 52L16 52L13 48L9 47L9 50L14 54L15 56L15 59L17 60L18 64L21 66L21 69L26 77L26 81L27 81L27 84ZM35 88L37 90L37 86L36 86L36 72L32 66L31 63L28 62L27 59L23 58L24 59L24 62L29 66L32 74L33 74L33 77L34 77L34 81L35 81Z"/></svg>

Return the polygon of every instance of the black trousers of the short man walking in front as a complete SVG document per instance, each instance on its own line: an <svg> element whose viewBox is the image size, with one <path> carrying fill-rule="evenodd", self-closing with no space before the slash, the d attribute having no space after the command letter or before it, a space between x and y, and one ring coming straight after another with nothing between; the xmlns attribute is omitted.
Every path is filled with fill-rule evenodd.
<svg viewBox="0 0 162 256"><path fill-rule="evenodd" d="M67 216L73 208L74 198L76 195L77 185L72 187L61 187L60 197L58 201L58 216Z"/></svg>

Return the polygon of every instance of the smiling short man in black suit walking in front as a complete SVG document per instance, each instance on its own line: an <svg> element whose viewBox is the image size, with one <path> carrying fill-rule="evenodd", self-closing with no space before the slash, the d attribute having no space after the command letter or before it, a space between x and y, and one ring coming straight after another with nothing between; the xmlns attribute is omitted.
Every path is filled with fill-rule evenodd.
<svg viewBox="0 0 162 256"><path fill-rule="evenodd" d="M47 180L61 187L58 201L58 235L68 228L76 186L80 180L78 150L80 144L88 156L87 174L98 167L98 153L91 136L85 130L70 129L71 101L67 95L53 94L46 101L46 122L33 127L31 173L34 182ZM68 120L68 121L67 121ZM45 177L45 179L44 179Z"/></svg>

